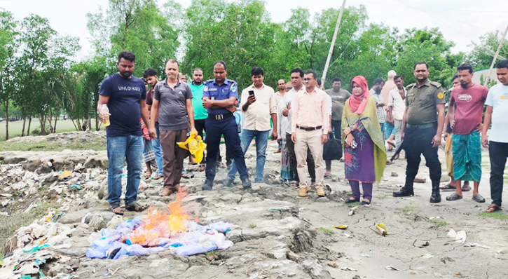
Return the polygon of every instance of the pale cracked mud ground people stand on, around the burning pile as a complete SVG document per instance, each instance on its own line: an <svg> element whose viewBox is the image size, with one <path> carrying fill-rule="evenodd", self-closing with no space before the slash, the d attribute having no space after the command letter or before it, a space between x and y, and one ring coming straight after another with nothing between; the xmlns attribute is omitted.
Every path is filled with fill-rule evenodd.
<svg viewBox="0 0 508 279"><path fill-rule="evenodd" d="M343 200L348 198L350 187L343 179L343 163L333 161L333 177L325 179L329 184L327 197L318 198L311 189L308 197L298 198L296 188L277 182L280 154L273 154L276 148L276 144L270 142L267 149L265 176L269 184L254 183L249 191L241 188L238 177L235 186L223 187L220 182L226 177L226 170L219 170L213 191L201 191L204 172L186 165L195 177L183 181L189 193L184 207L189 215L198 217L204 224L215 221L233 224L226 237L235 245L226 251L179 257L168 250L118 260L85 259L82 256L90 247L88 237L97 229L81 223L85 215L90 212L102 215L104 225L110 228L137 215L132 212L126 212L123 217L107 214L107 201L97 197L100 196L97 193L104 191L104 179L87 189L93 191L93 195L85 195L84 203L83 198L64 199L64 203L68 201L64 204L67 212L60 222L76 228L71 236L72 247L58 251L73 258L68 272L75 278L143 279L508 278L508 222L479 216L479 210L486 204L475 203L471 191L455 202L445 200L450 192L441 192L443 201L431 205L431 186L426 182L415 184L414 197L393 198L392 191L404 183L406 163L398 160L394 165L387 165L383 181L374 186L370 207L345 205ZM439 153L444 162L442 150ZM99 158L100 154L94 156ZM254 144L246 159L252 174L256 164ZM483 161L480 193L490 197L488 156L484 155ZM391 176L392 172L398 176ZM418 177L429 180L425 160ZM174 200L174 196L157 196L160 182L149 181L148 184L149 189L139 193L140 203L165 207ZM48 198L48 195L43 197ZM489 201L490 198L487 203ZM350 216L348 212L352 207L357 210ZM387 236L376 233L374 225L380 222L385 224ZM348 229L332 227L340 224L348 225ZM455 243L446 236L452 228L466 231L465 244ZM474 246L468 245L471 243L476 246L468 247ZM398 271L389 270L387 266ZM341 269L345 267L357 271ZM52 268L52 263L45 268L46 271ZM118 268L118 271L103 276L107 268Z"/></svg>

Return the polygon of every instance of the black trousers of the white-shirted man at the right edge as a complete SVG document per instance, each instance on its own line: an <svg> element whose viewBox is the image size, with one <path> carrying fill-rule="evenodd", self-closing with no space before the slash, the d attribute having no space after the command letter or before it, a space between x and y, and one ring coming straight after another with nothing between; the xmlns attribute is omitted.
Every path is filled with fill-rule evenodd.
<svg viewBox="0 0 508 279"><path fill-rule="evenodd" d="M490 157L490 198L492 203L501 206L504 166L508 157L508 143L489 142Z"/></svg>

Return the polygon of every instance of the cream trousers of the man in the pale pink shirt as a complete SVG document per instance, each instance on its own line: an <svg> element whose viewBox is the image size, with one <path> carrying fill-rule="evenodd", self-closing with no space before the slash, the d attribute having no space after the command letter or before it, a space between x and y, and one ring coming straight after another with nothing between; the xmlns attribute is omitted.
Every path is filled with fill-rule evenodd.
<svg viewBox="0 0 508 279"><path fill-rule="evenodd" d="M323 186L324 180L324 160L323 160L323 144L321 137L323 130L306 131L296 128L296 143L294 144L294 153L296 154L296 171L300 177L300 187L308 187L307 185L307 149L314 158L316 170L316 186Z"/></svg>

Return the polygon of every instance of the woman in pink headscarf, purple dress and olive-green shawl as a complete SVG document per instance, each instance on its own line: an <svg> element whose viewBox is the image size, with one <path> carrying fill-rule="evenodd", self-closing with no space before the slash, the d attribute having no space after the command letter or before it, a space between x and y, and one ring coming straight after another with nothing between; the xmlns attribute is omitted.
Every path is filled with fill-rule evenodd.
<svg viewBox="0 0 508 279"><path fill-rule="evenodd" d="M385 143L376 113L376 101L363 76L351 81L352 96L342 114L345 179L352 195L345 203L360 200L359 182L364 189L362 205L372 201L372 184L380 182L386 164Z"/></svg>

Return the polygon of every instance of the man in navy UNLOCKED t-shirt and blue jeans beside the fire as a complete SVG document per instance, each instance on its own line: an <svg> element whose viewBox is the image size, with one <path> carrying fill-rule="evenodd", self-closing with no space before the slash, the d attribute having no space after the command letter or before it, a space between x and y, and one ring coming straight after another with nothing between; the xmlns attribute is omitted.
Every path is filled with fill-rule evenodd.
<svg viewBox="0 0 508 279"><path fill-rule="evenodd" d="M137 189L142 170L143 140L139 118L150 123L146 110L146 88L144 82L132 76L136 57L134 53L122 51L118 54L118 73L109 76L99 90L97 111L101 121L111 123L106 127L108 168L108 202L111 211L123 215L120 207L122 194L123 163L127 161L127 186L125 209L141 212L146 206L136 202ZM109 115L102 113L106 104ZM155 137L155 132L150 137Z"/></svg>

